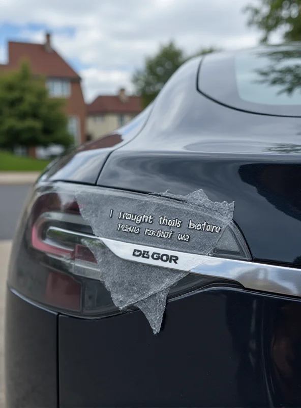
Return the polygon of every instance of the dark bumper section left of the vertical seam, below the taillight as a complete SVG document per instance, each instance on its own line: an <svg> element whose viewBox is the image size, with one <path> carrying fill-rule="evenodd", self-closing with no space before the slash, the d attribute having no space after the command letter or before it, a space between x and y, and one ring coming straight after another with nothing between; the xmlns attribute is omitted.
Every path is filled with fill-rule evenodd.
<svg viewBox="0 0 301 408"><path fill-rule="evenodd" d="M57 406L57 314L6 293L6 406Z"/></svg>

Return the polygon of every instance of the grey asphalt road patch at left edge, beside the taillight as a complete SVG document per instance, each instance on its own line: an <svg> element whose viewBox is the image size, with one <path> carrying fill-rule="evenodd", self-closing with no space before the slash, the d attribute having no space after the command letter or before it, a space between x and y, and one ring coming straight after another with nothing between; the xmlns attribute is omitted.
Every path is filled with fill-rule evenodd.
<svg viewBox="0 0 301 408"><path fill-rule="evenodd" d="M12 239L30 185L0 185L0 240Z"/></svg>

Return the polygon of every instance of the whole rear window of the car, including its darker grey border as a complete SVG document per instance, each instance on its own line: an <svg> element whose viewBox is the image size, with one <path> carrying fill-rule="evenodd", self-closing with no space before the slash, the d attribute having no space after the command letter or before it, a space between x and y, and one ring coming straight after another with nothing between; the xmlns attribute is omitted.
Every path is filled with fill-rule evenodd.
<svg viewBox="0 0 301 408"><path fill-rule="evenodd" d="M206 56L198 90L231 108L301 117L301 44Z"/></svg>

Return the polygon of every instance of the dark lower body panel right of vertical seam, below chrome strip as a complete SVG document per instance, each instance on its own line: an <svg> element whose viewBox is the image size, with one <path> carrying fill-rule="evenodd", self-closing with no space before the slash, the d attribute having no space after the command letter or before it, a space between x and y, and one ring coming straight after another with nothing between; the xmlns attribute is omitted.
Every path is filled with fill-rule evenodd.
<svg viewBox="0 0 301 408"><path fill-rule="evenodd" d="M61 316L61 406L300 406L300 318L299 300L229 288L169 302L158 336L140 311Z"/></svg>

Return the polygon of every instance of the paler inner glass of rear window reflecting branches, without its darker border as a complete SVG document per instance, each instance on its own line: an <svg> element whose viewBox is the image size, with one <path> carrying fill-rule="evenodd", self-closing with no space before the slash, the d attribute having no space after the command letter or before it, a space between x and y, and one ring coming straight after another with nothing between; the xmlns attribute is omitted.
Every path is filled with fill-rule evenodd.
<svg viewBox="0 0 301 408"><path fill-rule="evenodd" d="M235 57L239 97L264 105L301 105L300 50L245 52Z"/></svg>

